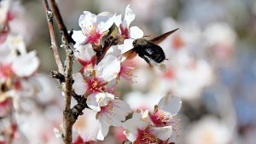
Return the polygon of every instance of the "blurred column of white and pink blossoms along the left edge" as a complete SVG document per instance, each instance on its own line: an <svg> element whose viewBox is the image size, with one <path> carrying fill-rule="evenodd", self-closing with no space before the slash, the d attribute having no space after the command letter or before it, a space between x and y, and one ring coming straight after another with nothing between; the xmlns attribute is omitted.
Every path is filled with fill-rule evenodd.
<svg viewBox="0 0 256 144"><path fill-rule="evenodd" d="M32 118L22 114L37 111L33 102L38 101L32 100L38 95L45 96L45 85L49 84L49 78L37 74L39 59L36 52L27 52L24 38L12 29L15 19L20 16L14 7L21 8L16 1L0 2L0 143L3 144L32 140L31 137L22 139L30 135L26 133L25 124ZM49 95L44 97L44 101L47 101L47 97ZM39 121L37 118L32 121Z"/></svg>

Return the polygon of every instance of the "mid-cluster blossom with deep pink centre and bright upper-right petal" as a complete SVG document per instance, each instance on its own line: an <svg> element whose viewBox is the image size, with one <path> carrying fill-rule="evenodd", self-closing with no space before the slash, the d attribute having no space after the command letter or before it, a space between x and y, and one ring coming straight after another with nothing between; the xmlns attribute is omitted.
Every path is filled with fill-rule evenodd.
<svg viewBox="0 0 256 144"><path fill-rule="evenodd" d="M84 95L86 91L90 94L104 92L108 82L117 78L119 71L120 61L113 55L108 55L93 68L84 69L84 73L74 73L73 89L78 95Z"/></svg>

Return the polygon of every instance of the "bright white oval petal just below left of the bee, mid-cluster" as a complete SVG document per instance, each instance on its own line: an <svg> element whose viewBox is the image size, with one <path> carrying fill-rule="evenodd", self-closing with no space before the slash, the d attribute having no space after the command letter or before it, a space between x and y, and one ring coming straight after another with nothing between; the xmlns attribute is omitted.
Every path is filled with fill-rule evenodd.
<svg viewBox="0 0 256 144"><path fill-rule="evenodd" d="M96 77L109 82L117 77L119 71L120 61L113 55L107 55L96 66Z"/></svg>

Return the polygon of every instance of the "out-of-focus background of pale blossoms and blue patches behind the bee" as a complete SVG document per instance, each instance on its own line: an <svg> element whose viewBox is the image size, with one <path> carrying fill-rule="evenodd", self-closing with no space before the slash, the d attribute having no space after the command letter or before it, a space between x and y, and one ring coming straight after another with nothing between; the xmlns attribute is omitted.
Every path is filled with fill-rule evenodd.
<svg viewBox="0 0 256 144"><path fill-rule="evenodd" d="M27 49L37 50L41 72L56 70L42 2L20 4L21 16L11 28L22 33ZM140 58L130 61L137 67L134 83L123 81L119 96L134 109L153 108L170 93L181 97L177 144L256 143L256 1L58 0L58 4L68 29L80 30L79 15L84 10L125 14L128 4L137 14L131 26L139 26L144 35L156 37L179 28L160 43L169 59L166 72ZM56 101L63 101L62 97ZM57 107L54 110L45 112L61 114ZM120 143L119 131L113 129L103 143Z"/></svg>

